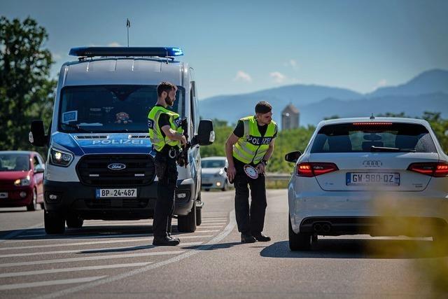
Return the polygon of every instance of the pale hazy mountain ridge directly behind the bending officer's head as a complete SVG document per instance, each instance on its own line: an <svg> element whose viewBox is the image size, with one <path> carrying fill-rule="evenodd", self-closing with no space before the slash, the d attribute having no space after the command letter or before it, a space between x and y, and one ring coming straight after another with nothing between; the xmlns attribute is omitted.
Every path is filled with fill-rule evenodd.
<svg viewBox="0 0 448 299"><path fill-rule="evenodd" d="M204 118L219 118L235 123L239 118L254 113L255 104L267 101L272 104L274 118L279 121L281 111L289 103L300 107L316 103L328 97L337 99L359 99L358 92L343 88L331 88L319 85L288 85L280 88L261 90L244 95L221 95L200 101L200 113Z"/></svg>

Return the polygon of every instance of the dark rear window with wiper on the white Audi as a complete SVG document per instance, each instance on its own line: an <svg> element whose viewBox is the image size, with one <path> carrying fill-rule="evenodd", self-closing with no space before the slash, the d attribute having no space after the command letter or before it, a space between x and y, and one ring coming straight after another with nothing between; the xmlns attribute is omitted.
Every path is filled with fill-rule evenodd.
<svg viewBox="0 0 448 299"><path fill-rule="evenodd" d="M370 151L435 153L426 127L412 123L344 123L318 131L311 153Z"/></svg>

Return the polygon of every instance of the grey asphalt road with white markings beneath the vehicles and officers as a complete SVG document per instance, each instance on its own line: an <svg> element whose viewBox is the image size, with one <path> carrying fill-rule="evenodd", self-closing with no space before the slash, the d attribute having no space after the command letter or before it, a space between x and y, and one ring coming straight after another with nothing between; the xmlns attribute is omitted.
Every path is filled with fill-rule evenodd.
<svg viewBox="0 0 448 299"><path fill-rule="evenodd" d="M319 237L291 252L286 190L267 194L272 242L254 244L239 242L232 190L202 193L202 225L176 247L152 246L149 220L47 236L43 211L0 209L0 298L447 298L430 238Z"/></svg>

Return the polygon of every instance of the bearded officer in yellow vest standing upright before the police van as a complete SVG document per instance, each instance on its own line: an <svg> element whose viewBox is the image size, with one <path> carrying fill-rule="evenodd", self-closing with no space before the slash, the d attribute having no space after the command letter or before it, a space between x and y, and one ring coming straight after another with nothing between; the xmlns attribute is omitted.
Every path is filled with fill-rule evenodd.
<svg viewBox="0 0 448 299"><path fill-rule="evenodd" d="M154 164L159 180L153 221L153 245L156 246L176 246L181 242L179 238L169 235L177 183L176 158L181 146L187 143L182 134L179 114L167 109L176 101L176 91L176 85L160 83L157 87L157 103L148 113L149 138L156 151Z"/></svg>

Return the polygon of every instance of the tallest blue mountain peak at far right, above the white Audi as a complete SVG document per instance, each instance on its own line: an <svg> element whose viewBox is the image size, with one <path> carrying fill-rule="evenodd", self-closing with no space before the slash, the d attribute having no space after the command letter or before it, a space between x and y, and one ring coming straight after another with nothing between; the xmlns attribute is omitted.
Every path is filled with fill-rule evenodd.
<svg viewBox="0 0 448 299"><path fill-rule="evenodd" d="M367 94L367 97L383 97L385 95L425 95L433 92L448 93L448 71L433 69L424 71L412 80L398 86L378 88Z"/></svg>

